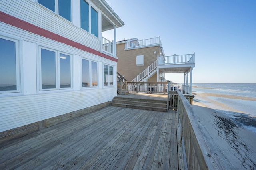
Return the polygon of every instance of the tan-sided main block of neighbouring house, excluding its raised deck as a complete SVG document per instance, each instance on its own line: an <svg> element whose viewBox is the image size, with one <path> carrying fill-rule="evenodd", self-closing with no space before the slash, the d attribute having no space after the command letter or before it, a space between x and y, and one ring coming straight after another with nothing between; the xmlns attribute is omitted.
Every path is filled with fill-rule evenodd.
<svg viewBox="0 0 256 170"><path fill-rule="evenodd" d="M148 69L159 56L164 56L164 50L159 37L147 40L132 38L116 43L118 57L117 71L123 75L127 81L164 81L164 74L156 68L152 70L148 77L137 80L137 75ZM156 66L156 65L155 65Z"/></svg>

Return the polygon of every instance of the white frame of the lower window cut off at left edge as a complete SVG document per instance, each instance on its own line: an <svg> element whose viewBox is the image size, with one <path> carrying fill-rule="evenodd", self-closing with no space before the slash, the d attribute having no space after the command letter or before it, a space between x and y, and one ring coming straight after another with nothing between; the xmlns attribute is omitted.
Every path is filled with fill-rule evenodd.
<svg viewBox="0 0 256 170"><path fill-rule="evenodd" d="M16 88L17 90L0 91L0 93L20 92L20 40L0 35L0 38L15 42L15 62L16 62Z"/></svg>

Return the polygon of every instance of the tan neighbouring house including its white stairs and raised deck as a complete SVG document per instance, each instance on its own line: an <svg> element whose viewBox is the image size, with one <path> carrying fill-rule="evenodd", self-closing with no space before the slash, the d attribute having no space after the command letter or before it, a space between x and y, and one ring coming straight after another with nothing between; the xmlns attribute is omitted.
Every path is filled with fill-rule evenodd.
<svg viewBox="0 0 256 170"><path fill-rule="evenodd" d="M166 56L160 37L146 40L132 38L119 41L116 44L117 72L128 82L163 82L166 81L166 73L184 73L184 84L177 85L172 89L192 96L192 71L195 67L195 53ZM190 80L188 80L189 73ZM134 85L128 90L137 91Z"/></svg>

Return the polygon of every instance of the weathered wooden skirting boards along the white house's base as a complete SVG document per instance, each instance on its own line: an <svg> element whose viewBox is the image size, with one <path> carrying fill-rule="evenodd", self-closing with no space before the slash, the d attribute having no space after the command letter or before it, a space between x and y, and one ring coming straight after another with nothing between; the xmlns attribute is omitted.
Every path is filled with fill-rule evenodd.
<svg viewBox="0 0 256 170"><path fill-rule="evenodd" d="M42 120L42 121L38 121L38 122L35 122L35 123L24 125L24 126L21 126L21 127L6 130L4 132L0 132L0 144L2 145L4 143L9 142L10 140L20 138L20 137L25 136L27 134L31 134L33 132L42 130L44 128L51 127L51 126L56 125L58 123L62 123L64 121L68 121L70 119L74 119L76 117L85 115L86 113L96 111L98 109L101 109L103 107L106 107L106 106L110 105L110 102L111 101L108 101L108 102L105 102L105 103L101 103L101 104L98 104L98 105L94 105L94 106L91 106L91 107L86 107L84 109L80 109L80 110L77 110L77 111L66 113L64 115L52 117L52 118L49 118L49 119L45 119L45 120Z"/></svg>

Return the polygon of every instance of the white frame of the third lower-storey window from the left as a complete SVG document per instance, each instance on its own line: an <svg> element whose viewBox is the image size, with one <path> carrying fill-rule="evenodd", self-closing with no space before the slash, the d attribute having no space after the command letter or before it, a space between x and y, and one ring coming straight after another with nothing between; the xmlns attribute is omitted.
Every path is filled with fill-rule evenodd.
<svg viewBox="0 0 256 170"><path fill-rule="evenodd" d="M85 59L89 61L89 86L83 87L83 65L82 60ZM92 62L97 63L97 86L92 86ZM98 88L99 87L99 62L88 59L87 57L80 57L80 89L91 89L91 88Z"/></svg>

